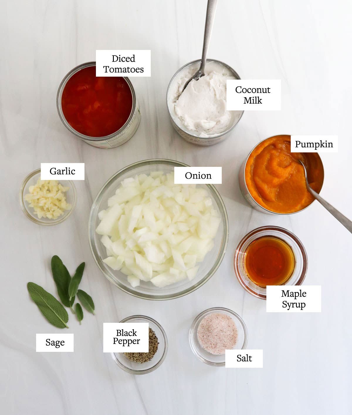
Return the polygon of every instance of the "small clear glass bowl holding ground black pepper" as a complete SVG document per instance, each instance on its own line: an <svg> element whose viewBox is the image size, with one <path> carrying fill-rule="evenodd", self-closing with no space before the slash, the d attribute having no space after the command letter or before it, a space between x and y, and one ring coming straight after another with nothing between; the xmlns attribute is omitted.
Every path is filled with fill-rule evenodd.
<svg viewBox="0 0 352 415"><path fill-rule="evenodd" d="M157 369L165 360L168 352L168 338L163 327L145 315L132 315L120 323L148 323L149 324L149 352L148 353L112 353L112 359L124 371L133 375L144 375Z"/></svg>

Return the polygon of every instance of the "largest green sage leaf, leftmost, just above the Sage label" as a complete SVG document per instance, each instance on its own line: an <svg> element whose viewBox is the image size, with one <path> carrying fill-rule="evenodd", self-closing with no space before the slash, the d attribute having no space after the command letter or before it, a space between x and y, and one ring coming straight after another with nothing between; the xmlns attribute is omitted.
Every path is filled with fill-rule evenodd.
<svg viewBox="0 0 352 415"><path fill-rule="evenodd" d="M28 283L27 289L32 300L49 323L59 329L68 328L66 325L68 322L67 311L53 295L35 283Z"/></svg>

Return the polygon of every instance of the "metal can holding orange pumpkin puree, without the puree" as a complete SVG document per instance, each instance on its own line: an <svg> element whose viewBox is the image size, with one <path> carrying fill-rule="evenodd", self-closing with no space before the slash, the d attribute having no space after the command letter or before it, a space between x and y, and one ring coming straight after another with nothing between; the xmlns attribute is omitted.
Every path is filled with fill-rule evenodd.
<svg viewBox="0 0 352 415"><path fill-rule="evenodd" d="M253 151L255 151L255 149L257 148L257 147L259 147L262 143L264 143L266 140L269 140L269 139L274 139L274 138L276 138L276 137L287 137L287 139L289 140L289 141L291 141L291 136L290 135L286 135L286 134L282 134L282 135L274 135L274 136L272 136L272 137L268 137L268 138L265 138L264 140L262 140L262 141L260 141L258 144L256 144L256 146L250 151L250 153L248 154L248 156L246 157L246 159L243 161L243 163L242 163L242 165L241 165L241 167L240 167L240 171L239 171L239 174L238 174L238 181L239 181L239 184L240 184L240 190L241 190L241 193L242 193L242 195L243 195L243 197L245 198L245 200L247 201L247 203L250 205L250 206L252 206L255 210L258 210L259 212L262 212L262 213L267 213L267 214L269 214L269 215L291 215L291 214L293 214L293 213L298 213L298 212L302 212L303 210L305 210L307 207L309 207L310 205L311 205L311 203L313 203L313 201L315 200L312 200L311 201L311 203L309 203L307 206L305 206L305 207L303 207L302 209L300 209L300 210L297 210L297 211L295 211L295 212L287 212L287 213L283 213L283 212L274 212L274 211L272 211L272 210L269 210L269 209L267 209L267 208L265 208L265 207L263 207L262 205L260 205L254 198L253 198L253 196L250 194L250 191L249 191L249 189L248 189L248 186L247 186L247 183L246 183L246 179L245 179L245 169L246 169L246 165L247 165L247 162L248 162L248 159L250 158L250 156L251 156L251 154L253 153ZM313 153L309 153L309 154L313 154ZM320 193L320 190L321 190L321 187L323 186L323 180L324 180L324 169L323 169L323 163L322 163L322 161L321 161L321 158L320 158L320 156L319 156L319 154L318 153L314 153L315 155L316 155L316 157L317 157L317 160L318 160L318 162L319 162L319 164L320 164L320 168L321 168L321 175L322 175L322 178L321 178L321 186L320 186L320 188L319 189L315 189L316 191L317 191L317 193ZM308 192L308 190L307 190L307 192ZM313 198L313 196L312 196L312 198Z"/></svg>

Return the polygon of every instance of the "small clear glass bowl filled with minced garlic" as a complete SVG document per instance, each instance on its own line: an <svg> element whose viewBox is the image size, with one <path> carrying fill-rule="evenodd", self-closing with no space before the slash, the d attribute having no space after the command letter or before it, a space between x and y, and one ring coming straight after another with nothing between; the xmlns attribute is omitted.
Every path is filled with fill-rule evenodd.
<svg viewBox="0 0 352 415"><path fill-rule="evenodd" d="M66 220L77 202L70 180L41 180L40 168L24 178L19 191L24 215L38 225L58 225Z"/></svg>

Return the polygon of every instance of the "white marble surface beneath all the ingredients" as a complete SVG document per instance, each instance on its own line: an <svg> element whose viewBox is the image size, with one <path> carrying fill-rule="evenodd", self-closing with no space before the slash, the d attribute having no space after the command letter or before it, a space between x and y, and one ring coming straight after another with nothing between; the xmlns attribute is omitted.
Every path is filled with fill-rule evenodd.
<svg viewBox="0 0 352 415"><path fill-rule="evenodd" d="M351 235L314 203L286 217L245 205L237 173L250 149L274 134L339 134L338 154L323 156L322 195L352 217L350 15L345 1L219 0L209 57L242 78L282 79L281 112L246 112L217 146L187 144L168 120L165 94L173 73L199 58L206 0L4 0L0 13L0 136L2 270L0 400L7 414L350 414ZM135 136L100 150L76 139L56 112L56 91L95 49L151 49L151 78L132 78L142 121ZM100 273L90 254L87 219L93 198L119 168L153 157L194 166L223 166L217 186L230 219L221 267L196 292L151 302L129 296ZM40 227L21 212L18 189L40 162L85 162L78 204L57 227ZM293 231L308 252L306 284L321 284L321 314L267 314L265 302L239 286L233 254L260 225ZM50 258L70 271L86 261L83 289L97 315L80 327L70 318L74 353L36 353L35 333L60 332L29 299L26 283L55 292ZM213 368L188 345L200 311L231 308L248 326L248 348L264 350L264 369ZM162 366L145 376L121 371L102 353L102 323L132 314L159 321L169 339Z"/></svg>

